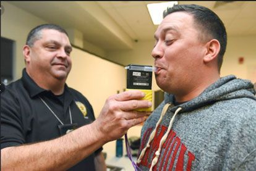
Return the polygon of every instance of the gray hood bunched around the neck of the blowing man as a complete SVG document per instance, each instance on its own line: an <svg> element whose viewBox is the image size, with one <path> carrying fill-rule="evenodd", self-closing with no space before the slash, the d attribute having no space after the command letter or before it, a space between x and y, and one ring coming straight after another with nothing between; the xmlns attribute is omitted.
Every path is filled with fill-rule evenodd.
<svg viewBox="0 0 256 171"><path fill-rule="evenodd" d="M197 98L177 107L173 107L172 111L181 107L182 112L188 112L197 109L198 107L205 106L205 104L237 98L250 98L256 101L254 85L250 80L244 80L236 78L234 75L228 75L208 86L208 88L197 96ZM174 102L174 95L164 93L164 103L166 104L168 102Z"/></svg>

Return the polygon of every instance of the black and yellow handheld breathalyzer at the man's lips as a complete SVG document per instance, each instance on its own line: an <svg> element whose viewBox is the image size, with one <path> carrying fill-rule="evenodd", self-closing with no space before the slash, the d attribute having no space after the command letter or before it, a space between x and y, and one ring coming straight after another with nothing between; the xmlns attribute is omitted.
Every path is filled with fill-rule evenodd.
<svg viewBox="0 0 256 171"><path fill-rule="evenodd" d="M142 100L152 102L152 72L155 71L155 67L150 65L134 65L130 64L124 67L127 69L127 86L126 91L140 90L145 93L145 97ZM151 107L143 109L135 109L135 111L151 112Z"/></svg>

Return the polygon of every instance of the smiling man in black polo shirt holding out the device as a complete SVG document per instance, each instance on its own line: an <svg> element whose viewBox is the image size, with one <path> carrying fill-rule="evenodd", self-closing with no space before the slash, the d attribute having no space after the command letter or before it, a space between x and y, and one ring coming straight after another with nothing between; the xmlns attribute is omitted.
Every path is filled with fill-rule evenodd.
<svg viewBox="0 0 256 171"><path fill-rule="evenodd" d="M1 94L2 170L106 170L101 146L145 120L133 111L151 106L137 100L140 91L109 97L95 120L88 100L66 85L71 51L58 25L28 34L22 78Z"/></svg>

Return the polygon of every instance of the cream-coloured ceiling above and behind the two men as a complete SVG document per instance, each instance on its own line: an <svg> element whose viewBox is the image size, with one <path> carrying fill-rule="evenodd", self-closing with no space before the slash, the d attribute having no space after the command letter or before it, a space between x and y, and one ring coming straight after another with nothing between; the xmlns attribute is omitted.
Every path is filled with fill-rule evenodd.
<svg viewBox="0 0 256 171"><path fill-rule="evenodd" d="M135 40L153 40L156 30L147 4L164 1L10 1L49 23L79 30L83 39L105 50L132 49ZM166 2L166 1L165 1ZM256 2L179 1L216 12L228 35L256 35Z"/></svg>

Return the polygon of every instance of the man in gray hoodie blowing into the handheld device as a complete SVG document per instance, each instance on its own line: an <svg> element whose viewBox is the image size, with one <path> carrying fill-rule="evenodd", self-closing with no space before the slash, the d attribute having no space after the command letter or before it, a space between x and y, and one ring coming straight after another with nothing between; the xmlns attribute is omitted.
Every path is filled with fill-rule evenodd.
<svg viewBox="0 0 256 171"><path fill-rule="evenodd" d="M206 7L164 11L155 32L165 98L142 128L142 170L255 170L256 98L249 80L220 78L226 30Z"/></svg>

